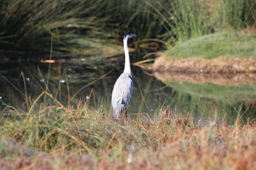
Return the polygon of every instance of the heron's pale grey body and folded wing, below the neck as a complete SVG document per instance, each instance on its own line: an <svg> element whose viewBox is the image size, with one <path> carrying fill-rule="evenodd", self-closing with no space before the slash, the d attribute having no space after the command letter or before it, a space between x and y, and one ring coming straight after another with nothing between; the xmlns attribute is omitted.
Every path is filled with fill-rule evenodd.
<svg viewBox="0 0 256 170"><path fill-rule="evenodd" d="M119 113L122 112L128 105L133 92L133 79L132 76L123 73L114 84L112 92L111 104L113 108L113 115L116 119Z"/></svg>

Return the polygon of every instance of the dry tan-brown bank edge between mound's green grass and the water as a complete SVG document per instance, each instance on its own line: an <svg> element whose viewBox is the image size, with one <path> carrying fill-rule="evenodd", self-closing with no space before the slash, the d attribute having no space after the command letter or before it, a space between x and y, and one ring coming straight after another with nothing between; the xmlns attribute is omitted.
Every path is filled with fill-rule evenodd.
<svg viewBox="0 0 256 170"><path fill-rule="evenodd" d="M214 59L159 57L153 64L153 70L185 73L255 73L256 59L226 56Z"/></svg>

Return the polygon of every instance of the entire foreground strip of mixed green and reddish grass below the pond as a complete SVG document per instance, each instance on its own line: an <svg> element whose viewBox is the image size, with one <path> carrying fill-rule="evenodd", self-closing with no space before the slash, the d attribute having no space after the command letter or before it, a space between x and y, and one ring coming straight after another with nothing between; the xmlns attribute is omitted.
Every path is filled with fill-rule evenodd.
<svg viewBox="0 0 256 170"><path fill-rule="evenodd" d="M40 114L2 118L0 169L256 169L255 120L196 121L167 107L124 125L81 103L48 124Z"/></svg>

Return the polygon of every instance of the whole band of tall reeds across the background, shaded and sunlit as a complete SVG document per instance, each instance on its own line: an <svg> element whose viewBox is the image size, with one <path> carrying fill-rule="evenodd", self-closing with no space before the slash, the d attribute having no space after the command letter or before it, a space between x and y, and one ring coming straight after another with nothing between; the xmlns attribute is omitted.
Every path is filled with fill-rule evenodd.
<svg viewBox="0 0 256 170"><path fill-rule="evenodd" d="M49 53L53 36L53 57L109 57L122 51L125 30L136 33L136 43L147 48L139 41L184 42L227 27L251 27L255 13L254 0L3 0L0 52Z"/></svg>

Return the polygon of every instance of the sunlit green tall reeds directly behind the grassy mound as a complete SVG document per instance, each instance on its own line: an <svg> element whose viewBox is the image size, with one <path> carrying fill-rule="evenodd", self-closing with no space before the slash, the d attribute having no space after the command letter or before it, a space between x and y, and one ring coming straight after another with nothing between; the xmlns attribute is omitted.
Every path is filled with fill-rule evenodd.
<svg viewBox="0 0 256 170"><path fill-rule="evenodd" d="M160 9L149 4L155 16L165 23L165 41L183 43L224 28L244 29L256 22L253 0L170 0L166 4L158 2Z"/></svg>

